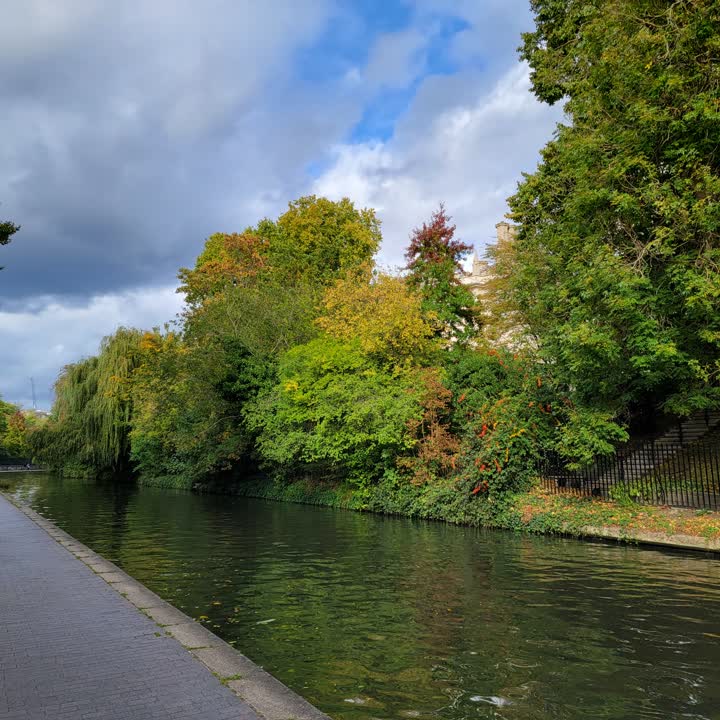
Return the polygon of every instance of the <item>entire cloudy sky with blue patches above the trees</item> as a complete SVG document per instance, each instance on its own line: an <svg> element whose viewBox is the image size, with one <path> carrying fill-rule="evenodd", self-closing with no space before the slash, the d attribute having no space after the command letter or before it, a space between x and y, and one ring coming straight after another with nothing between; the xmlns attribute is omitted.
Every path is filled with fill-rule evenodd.
<svg viewBox="0 0 720 720"><path fill-rule="evenodd" d="M527 0L3 0L0 395L181 309L205 238L314 193L382 220L440 202L482 253L562 120L516 52Z"/></svg>

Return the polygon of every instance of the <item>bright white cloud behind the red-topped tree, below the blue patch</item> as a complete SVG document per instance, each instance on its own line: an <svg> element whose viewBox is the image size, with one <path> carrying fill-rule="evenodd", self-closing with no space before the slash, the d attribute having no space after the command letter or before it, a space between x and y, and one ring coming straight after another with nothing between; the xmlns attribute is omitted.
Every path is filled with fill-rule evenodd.
<svg viewBox="0 0 720 720"><path fill-rule="evenodd" d="M460 237L481 251L561 117L532 96L525 65L486 93L468 93L471 80L430 78L390 141L336 147L334 162L315 182L318 194L347 195L378 210L384 263L402 262L410 231L440 202Z"/></svg>

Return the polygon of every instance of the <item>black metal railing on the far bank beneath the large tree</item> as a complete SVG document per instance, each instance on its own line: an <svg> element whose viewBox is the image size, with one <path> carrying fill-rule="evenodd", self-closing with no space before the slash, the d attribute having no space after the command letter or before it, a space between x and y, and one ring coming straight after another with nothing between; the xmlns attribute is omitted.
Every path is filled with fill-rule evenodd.
<svg viewBox="0 0 720 720"><path fill-rule="evenodd" d="M597 457L580 470L567 470L559 457L547 456L539 472L551 492L720 509L720 438L690 444L649 441Z"/></svg>

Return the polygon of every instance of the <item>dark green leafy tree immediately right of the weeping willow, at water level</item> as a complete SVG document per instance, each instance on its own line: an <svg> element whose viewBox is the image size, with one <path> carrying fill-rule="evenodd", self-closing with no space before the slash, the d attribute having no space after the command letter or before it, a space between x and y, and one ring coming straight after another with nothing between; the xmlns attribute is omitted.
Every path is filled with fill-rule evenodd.
<svg viewBox="0 0 720 720"><path fill-rule="evenodd" d="M242 465L252 435L242 408L273 366L227 336L183 341L147 333L133 380L131 459L146 479L174 487Z"/></svg>

